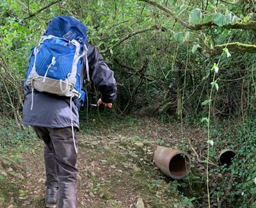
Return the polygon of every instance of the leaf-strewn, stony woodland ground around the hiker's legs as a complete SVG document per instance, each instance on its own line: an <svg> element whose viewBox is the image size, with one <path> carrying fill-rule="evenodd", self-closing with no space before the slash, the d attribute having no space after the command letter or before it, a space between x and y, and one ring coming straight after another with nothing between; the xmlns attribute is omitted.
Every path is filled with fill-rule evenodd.
<svg viewBox="0 0 256 208"><path fill-rule="evenodd" d="M152 145L180 148L179 124L147 116L98 117L89 125L81 123L78 207L135 207L138 198L143 198L145 207L179 203L179 194L168 186L171 179L152 161ZM185 127L184 137L198 143L204 140L204 132ZM1 154L0 164L7 175L0 180L0 207L44 207L44 145L36 140L31 146ZM195 160L193 154L191 159Z"/></svg>

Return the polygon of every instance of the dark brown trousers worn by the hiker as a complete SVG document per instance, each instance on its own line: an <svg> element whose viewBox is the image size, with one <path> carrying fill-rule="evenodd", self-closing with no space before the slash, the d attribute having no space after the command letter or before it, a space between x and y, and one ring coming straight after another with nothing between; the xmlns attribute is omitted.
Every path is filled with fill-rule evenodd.
<svg viewBox="0 0 256 208"><path fill-rule="evenodd" d="M71 127L32 127L44 141L45 186L59 188L59 208L77 207L77 154ZM77 145L77 129L74 128Z"/></svg>

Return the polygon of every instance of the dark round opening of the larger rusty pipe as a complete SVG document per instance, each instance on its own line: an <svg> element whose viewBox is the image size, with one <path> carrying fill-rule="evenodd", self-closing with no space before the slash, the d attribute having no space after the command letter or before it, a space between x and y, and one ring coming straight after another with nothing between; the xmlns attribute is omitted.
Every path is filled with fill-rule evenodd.
<svg viewBox="0 0 256 208"><path fill-rule="evenodd" d="M176 156L172 157L169 164L170 173L177 177L182 177L186 175L189 168L190 168L189 158L184 154L177 154Z"/></svg>

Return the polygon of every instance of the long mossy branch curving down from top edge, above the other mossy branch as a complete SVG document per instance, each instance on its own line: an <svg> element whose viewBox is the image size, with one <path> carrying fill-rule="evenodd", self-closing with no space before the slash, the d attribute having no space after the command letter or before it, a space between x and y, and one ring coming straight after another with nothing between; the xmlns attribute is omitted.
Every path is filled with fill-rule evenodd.
<svg viewBox="0 0 256 208"><path fill-rule="evenodd" d="M185 28L189 28L189 29L193 29L193 30L200 30L200 29L207 29L211 26L217 26L216 24L214 24L214 22L207 22L205 24L189 24L189 22L180 19L179 17L175 17L175 13L173 13L171 10L169 10L166 6L163 6L161 4L156 3L155 1L152 0L140 0L140 1L144 1L147 2L148 4L151 4L153 6L156 6L157 8L159 8L160 10L166 12L168 15L170 15L171 17L173 17L173 19L177 20L177 22L179 22L180 24L182 24L182 26L184 26ZM223 28L227 28L227 29L252 29L252 30L256 30L256 21L250 21L250 22L243 22L243 23L237 23L237 24L227 24L225 26L223 26Z"/></svg>

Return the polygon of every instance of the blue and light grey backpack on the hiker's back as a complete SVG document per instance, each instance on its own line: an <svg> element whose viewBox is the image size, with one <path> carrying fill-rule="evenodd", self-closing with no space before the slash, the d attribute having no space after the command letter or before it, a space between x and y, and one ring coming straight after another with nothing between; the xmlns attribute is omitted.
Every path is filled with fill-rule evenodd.
<svg viewBox="0 0 256 208"><path fill-rule="evenodd" d="M56 95L76 97L77 103L84 103L84 75L81 68L89 67L86 47L87 28L72 17L55 17L49 23L38 45L31 49L28 72L24 86L32 88L31 109L33 109L33 90Z"/></svg>

